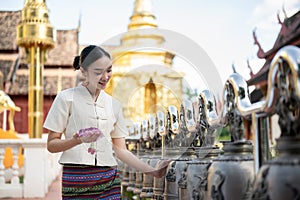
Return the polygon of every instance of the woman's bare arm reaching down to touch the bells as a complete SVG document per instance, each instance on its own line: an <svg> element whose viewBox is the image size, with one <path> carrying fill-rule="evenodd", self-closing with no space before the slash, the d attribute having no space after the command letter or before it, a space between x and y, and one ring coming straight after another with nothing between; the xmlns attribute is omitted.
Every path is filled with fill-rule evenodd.
<svg viewBox="0 0 300 200"><path fill-rule="evenodd" d="M128 166L143 173L149 173L155 177L162 177L165 174L166 167L170 161L166 161L163 165L161 165L161 168L155 169L128 151L124 138L112 138L112 142L116 156Z"/></svg>

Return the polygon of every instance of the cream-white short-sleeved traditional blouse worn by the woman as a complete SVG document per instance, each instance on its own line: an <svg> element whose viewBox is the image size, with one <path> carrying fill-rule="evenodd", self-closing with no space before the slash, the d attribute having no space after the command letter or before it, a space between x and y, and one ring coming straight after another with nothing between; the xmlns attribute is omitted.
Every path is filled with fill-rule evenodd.
<svg viewBox="0 0 300 200"><path fill-rule="evenodd" d="M80 85L58 93L44 122L44 128L63 133L65 138L82 128L97 127L104 137L94 144L95 154L88 153L90 143L82 143L62 153L61 164L116 166L111 138L128 135L119 101L100 92L94 102L86 87Z"/></svg>

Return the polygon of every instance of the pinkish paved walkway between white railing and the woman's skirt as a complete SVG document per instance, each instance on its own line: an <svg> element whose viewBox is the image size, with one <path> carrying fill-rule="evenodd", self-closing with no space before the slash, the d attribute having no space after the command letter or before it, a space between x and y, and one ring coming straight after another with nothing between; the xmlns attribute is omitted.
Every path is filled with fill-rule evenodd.
<svg viewBox="0 0 300 200"><path fill-rule="evenodd" d="M0 200L22 200L20 198L5 198ZM59 175L51 184L49 191L44 198L25 198L24 200L61 200L61 176Z"/></svg>

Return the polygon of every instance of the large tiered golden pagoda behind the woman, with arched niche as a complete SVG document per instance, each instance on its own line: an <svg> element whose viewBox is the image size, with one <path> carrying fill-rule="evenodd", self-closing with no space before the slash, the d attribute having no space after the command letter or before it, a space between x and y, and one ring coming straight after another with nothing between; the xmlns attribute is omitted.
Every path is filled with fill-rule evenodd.
<svg viewBox="0 0 300 200"><path fill-rule="evenodd" d="M152 0L135 0L128 31L120 46L112 50L113 77L107 92L121 101L125 119L141 122L152 112L169 105L179 108L182 100L182 75L173 68L175 55L161 48L165 38L160 34L152 13ZM151 80L157 101L145 99L145 88ZM149 84L148 84L149 85ZM145 105L153 104L156 105Z"/></svg>

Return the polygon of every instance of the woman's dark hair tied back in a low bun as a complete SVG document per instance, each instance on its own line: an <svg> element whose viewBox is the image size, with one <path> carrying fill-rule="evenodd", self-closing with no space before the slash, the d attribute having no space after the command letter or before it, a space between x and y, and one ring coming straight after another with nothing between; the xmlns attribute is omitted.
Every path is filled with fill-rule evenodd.
<svg viewBox="0 0 300 200"><path fill-rule="evenodd" d="M103 48L96 45L89 45L81 51L80 56L76 56L74 58L73 67L75 70L80 69L80 67L83 67L85 70L87 70L90 64L102 58L103 56L111 58L110 54Z"/></svg>

